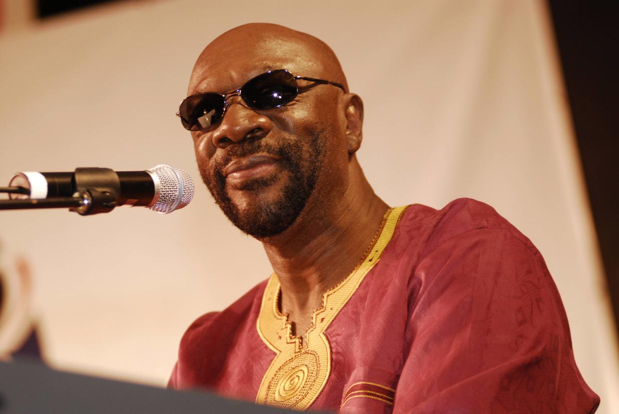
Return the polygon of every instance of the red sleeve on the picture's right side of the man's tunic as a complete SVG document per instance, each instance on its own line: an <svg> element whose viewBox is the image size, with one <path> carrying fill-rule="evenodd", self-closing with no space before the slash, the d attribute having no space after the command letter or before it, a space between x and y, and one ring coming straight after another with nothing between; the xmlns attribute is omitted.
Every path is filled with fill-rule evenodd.
<svg viewBox="0 0 619 414"><path fill-rule="evenodd" d="M555 284L528 239L470 230L413 273L394 414L595 411Z"/></svg>

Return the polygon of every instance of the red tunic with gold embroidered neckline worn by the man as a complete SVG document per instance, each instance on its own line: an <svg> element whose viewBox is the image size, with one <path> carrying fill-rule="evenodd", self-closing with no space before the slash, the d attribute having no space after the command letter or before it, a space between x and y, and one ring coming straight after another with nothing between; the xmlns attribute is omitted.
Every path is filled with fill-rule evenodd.
<svg viewBox="0 0 619 414"><path fill-rule="evenodd" d="M325 294L304 346L278 297L272 276L198 318L169 386L342 413L591 413L599 404L542 255L478 201L393 211L361 268Z"/></svg>

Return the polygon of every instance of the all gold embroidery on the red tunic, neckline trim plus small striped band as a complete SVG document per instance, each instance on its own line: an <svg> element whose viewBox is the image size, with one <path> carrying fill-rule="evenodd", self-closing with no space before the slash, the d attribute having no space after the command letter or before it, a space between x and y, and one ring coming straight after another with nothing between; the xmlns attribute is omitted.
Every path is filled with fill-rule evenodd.
<svg viewBox="0 0 619 414"><path fill-rule="evenodd" d="M280 284L277 275L272 274L262 295L256 328L262 342L275 352L275 357L262 377L256 402L305 410L316 400L331 374L331 347L324 332L380 260L405 209L405 206L397 207L386 214L382 229L377 232L379 236L375 237L365 258L344 281L322 295L322 306L312 315L305 345L301 344L300 337L292 336L287 316L279 312Z"/></svg>

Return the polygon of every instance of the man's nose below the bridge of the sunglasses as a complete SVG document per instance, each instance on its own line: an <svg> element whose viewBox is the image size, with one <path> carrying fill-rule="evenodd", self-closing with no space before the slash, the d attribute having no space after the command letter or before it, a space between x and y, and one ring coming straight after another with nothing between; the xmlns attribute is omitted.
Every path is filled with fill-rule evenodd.
<svg viewBox="0 0 619 414"><path fill-rule="evenodd" d="M223 149L249 138L266 137L272 127L269 117L248 108L240 96L234 96L211 139L215 147Z"/></svg>

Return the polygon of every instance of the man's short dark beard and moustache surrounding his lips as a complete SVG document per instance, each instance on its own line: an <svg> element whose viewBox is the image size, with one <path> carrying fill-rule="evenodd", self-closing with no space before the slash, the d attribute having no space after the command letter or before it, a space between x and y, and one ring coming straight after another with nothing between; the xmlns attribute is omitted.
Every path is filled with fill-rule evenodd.
<svg viewBox="0 0 619 414"><path fill-rule="evenodd" d="M200 166L200 175L215 203L232 224L256 239L271 237L288 229L305 208L323 164L322 135L323 132L318 132L306 138L287 141L282 145L267 143L264 138L249 138L228 146L223 156L217 159L210 169ZM275 200L262 200L256 194L258 201L249 203L241 210L228 195L223 169L232 159L252 154L277 156L282 172L288 172L288 182ZM238 189L258 193L274 184L279 175L246 180Z"/></svg>

